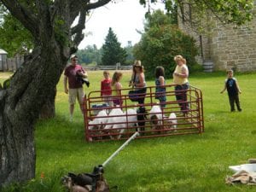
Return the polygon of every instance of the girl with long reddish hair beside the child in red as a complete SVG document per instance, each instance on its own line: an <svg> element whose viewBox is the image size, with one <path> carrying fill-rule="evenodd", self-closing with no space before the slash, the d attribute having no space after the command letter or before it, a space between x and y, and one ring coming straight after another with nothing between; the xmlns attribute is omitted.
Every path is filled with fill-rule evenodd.
<svg viewBox="0 0 256 192"><path fill-rule="evenodd" d="M112 89L112 99L113 99L113 106L122 106L122 84L120 80L122 79L122 73L115 72L113 73L112 82L111 82L111 89Z"/></svg>

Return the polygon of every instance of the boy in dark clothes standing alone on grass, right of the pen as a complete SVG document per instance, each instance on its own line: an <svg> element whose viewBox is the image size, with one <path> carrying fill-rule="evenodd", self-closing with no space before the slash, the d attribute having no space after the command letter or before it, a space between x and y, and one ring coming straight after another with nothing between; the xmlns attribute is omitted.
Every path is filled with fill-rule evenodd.
<svg viewBox="0 0 256 192"><path fill-rule="evenodd" d="M235 102L236 102L237 110L241 111L240 101L238 96L238 93L241 93L241 90L239 88L236 78L233 77L233 74L234 74L233 70L227 71L228 78L225 79L224 89L220 91L220 93L223 93L224 90L228 91L231 112L236 111Z"/></svg>

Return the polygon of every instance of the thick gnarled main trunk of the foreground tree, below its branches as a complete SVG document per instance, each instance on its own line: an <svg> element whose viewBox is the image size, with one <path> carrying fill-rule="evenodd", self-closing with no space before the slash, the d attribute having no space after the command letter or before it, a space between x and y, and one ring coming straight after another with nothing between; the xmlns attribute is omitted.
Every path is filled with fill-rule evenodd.
<svg viewBox="0 0 256 192"><path fill-rule="evenodd" d="M35 176L34 122L43 106L54 111L55 85L66 61L59 47L38 47L14 74L9 89L0 90L0 186Z"/></svg>

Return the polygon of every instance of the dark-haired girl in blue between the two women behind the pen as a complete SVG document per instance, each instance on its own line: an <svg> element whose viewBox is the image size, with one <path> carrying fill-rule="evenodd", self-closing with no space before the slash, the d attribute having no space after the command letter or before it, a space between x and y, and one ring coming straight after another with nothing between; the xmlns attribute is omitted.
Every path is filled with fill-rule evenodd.
<svg viewBox="0 0 256 192"><path fill-rule="evenodd" d="M164 67L155 68L155 99L160 101L160 107L166 108L166 81Z"/></svg>

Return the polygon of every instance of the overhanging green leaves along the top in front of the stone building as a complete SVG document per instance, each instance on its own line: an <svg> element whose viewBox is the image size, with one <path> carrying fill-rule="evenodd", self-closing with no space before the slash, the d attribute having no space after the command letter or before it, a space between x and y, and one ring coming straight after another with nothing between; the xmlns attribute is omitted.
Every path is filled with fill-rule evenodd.
<svg viewBox="0 0 256 192"><path fill-rule="evenodd" d="M208 14L215 15L224 23L233 23L238 26L253 19L253 0L140 0L144 5L148 2L166 3L166 10L169 12L173 12L173 8L177 6L180 9L178 16L183 20L189 20L194 25L201 24ZM190 10L195 13L193 18L190 17Z"/></svg>

